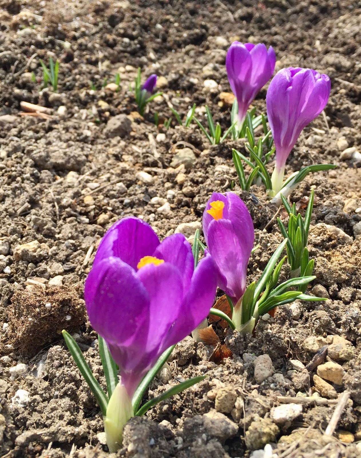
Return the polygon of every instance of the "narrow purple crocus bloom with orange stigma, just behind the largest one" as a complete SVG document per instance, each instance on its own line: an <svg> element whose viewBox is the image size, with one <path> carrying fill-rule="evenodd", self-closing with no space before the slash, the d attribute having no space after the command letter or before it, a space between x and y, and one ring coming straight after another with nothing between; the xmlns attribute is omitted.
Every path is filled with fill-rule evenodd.
<svg viewBox="0 0 361 458"><path fill-rule="evenodd" d="M214 192L203 213L203 233L218 267L218 286L236 304L246 289L254 242L252 218L242 199L233 192Z"/></svg>

